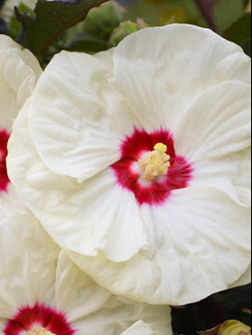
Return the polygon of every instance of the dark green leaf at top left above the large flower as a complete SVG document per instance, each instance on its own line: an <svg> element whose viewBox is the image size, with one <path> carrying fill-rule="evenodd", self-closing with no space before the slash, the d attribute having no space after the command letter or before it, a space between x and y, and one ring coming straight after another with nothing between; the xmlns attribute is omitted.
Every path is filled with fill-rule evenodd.
<svg viewBox="0 0 252 335"><path fill-rule="evenodd" d="M41 58L51 44L68 28L84 20L89 10L106 0L39 0L34 9L35 17L22 14L15 8L17 20L22 24L18 42Z"/></svg>

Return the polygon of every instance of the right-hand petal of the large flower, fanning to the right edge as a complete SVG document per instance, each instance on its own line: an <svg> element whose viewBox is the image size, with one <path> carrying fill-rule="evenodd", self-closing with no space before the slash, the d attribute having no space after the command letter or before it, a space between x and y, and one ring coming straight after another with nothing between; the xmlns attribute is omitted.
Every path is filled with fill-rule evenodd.
<svg viewBox="0 0 252 335"><path fill-rule="evenodd" d="M250 89L228 81L206 90L173 132L176 153L193 162L191 184L220 189L241 206L251 198Z"/></svg>

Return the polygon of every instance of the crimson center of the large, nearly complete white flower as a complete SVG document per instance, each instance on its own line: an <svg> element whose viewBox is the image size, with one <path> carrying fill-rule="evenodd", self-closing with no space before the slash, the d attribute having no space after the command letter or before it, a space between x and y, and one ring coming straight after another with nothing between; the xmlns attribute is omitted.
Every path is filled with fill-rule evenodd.
<svg viewBox="0 0 252 335"><path fill-rule="evenodd" d="M164 172L160 174L155 172L153 158L149 158L154 153L156 144L161 147L166 146L166 152L163 154L169 158L169 163L164 162L167 168L161 169ZM151 165L147 166L143 172L141 168L143 161L146 160L145 166L148 165L148 162ZM163 159L165 160L166 158ZM140 205L144 203L163 204L173 190L187 187L192 175L191 163L175 154L173 136L169 131L163 129L149 134L145 130L135 129L134 134L126 137L121 145L121 159L111 167L119 185L133 191ZM148 178L145 178L146 170L151 171L147 173Z"/></svg>

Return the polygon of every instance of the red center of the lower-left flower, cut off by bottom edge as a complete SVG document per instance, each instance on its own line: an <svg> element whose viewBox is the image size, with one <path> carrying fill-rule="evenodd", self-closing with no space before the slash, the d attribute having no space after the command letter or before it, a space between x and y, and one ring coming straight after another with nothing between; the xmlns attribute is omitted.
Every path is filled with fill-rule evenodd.
<svg viewBox="0 0 252 335"><path fill-rule="evenodd" d="M73 335L75 333L63 313L44 304L36 303L33 307L22 307L12 320L7 321L4 334L24 335L29 334L29 330L32 334L40 334L36 330L42 329L55 335Z"/></svg>

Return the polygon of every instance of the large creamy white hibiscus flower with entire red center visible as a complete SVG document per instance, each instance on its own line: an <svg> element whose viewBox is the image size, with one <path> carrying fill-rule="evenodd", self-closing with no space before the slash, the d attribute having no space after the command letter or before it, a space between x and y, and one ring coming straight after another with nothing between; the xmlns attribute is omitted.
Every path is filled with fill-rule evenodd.
<svg viewBox="0 0 252 335"><path fill-rule="evenodd" d="M61 52L14 125L16 190L113 293L184 304L228 288L250 262L249 68L183 24Z"/></svg>

